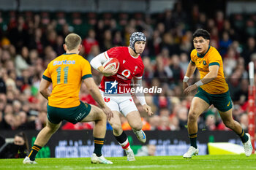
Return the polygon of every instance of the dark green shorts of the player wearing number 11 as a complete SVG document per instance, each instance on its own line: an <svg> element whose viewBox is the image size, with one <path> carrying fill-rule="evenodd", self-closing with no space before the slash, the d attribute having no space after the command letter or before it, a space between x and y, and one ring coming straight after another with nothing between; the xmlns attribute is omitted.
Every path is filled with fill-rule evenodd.
<svg viewBox="0 0 256 170"><path fill-rule="evenodd" d="M51 123L59 124L62 120L67 120L70 123L78 123L86 117L91 111L91 105L80 101L78 107L59 108L50 107L47 105L47 117Z"/></svg>

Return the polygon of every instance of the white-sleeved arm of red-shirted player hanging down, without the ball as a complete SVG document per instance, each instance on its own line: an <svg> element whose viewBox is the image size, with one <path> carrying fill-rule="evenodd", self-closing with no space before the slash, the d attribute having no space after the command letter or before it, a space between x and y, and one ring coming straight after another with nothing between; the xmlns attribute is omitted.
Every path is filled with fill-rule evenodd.
<svg viewBox="0 0 256 170"><path fill-rule="evenodd" d="M135 82L135 85L137 88L143 87L142 86L142 79L136 79L133 78L133 81ZM135 93L136 98L140 101L140 104L142 105L143 109L148 113L148 115L153 115L152 109L148 104L146 104L145 94L142 93Z"/></svg>

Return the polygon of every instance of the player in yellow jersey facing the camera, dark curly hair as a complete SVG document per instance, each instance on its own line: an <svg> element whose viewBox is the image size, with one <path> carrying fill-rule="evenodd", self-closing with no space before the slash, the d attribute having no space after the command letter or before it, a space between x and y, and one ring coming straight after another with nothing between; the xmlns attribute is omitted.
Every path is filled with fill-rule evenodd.
<svg viewBox="0 0 256 170"><path fill-rule="evenodd" d="M197 118L211 104L218 109L219 115L222 117L222 121L227 128L232 129L240 136L244 144L245 155L249 156L252 154L250 136L249 134L244 134L241 125L233 120L232 101L223 73L222 57L214 47L209 45L209 42L210 34L208 31L197 29L193 34L195 49L191 52L191 61L183 80L183 88L185 94L189 94L197 88L198 90L192 99L187 121L191 146L183 157L191 158L192 155L198 154ZM189 77L192 77L196 68L200 72L200 80L193 85L188 85L187 81Z"/></svg>

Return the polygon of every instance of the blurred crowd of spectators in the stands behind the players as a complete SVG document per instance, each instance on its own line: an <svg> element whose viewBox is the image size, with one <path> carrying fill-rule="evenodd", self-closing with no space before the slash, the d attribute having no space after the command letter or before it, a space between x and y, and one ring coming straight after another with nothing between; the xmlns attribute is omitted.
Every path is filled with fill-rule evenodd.
<svg viewBox="0 0 256 170"><path fill-rule="evenodd" d="M256 15L226 16L222 11L210 17L197 5L184 12L180 3L172 10L151 15L0 12L0 129L44 127L47 100L38 93L39 82L48 63L64 53L67 34L75 32L82 36L80 55L91 61L111 47L129 46L129 35L134 31L143 31L147 36L146 50L141 56L145 65L144 86L163 89L161 95L146 95L154 116L148 117L135 99L143 117L143 130L185 129L192 95L184 96L182 80L193 49L193 31L205 28L211 33L211 46L222 55L234 119L246 130L249 61L254 61L256 66L255 20ZM102 76L94 69L92 72L99 84ZM85 85L81 87L80 100L96 104ZM123 129L131 130L125 117L121 120ZM93 123L63 123L61 129L92 127ZM214 107L200 117L198 127L227 130ZM108 129L111 129L109 125Z"/></svg>

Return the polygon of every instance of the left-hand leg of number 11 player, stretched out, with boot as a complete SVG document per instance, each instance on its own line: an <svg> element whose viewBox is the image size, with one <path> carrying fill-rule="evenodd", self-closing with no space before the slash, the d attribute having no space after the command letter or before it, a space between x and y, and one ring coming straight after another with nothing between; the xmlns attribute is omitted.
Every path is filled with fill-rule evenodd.
<svg viewBox="0 0 256 170"><path fill-rule="evenodd" d="M49 120L47 121L47 125L37 135L37 139L31 148L31 152L29 156L26 157L23 163L36 163L34 160L37 156L37 152L45 146L45 144L49 141L50 137L59 129L61 122L58 124L51 123Z"/></svg>

